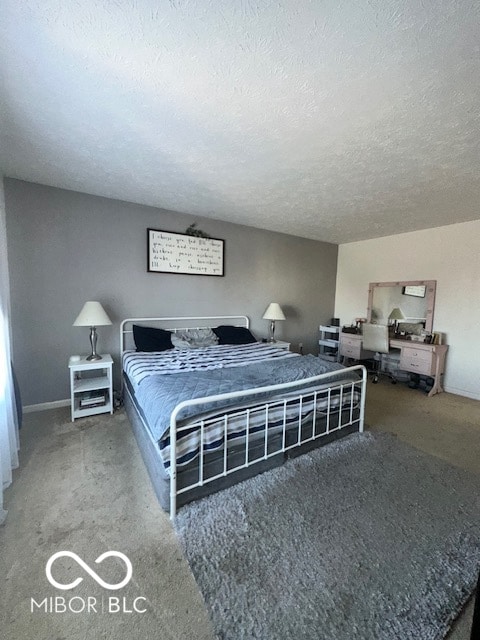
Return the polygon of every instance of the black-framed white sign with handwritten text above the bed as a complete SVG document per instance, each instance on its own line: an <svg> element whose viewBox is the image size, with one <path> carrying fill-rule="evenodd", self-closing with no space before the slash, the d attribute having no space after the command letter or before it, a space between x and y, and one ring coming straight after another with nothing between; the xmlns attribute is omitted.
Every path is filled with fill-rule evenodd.
<svg viewBox="0 0 480 640"><path fill-rule="evenodd" d="M223 240L148 229L148 270L223 276Z"/></svg>

